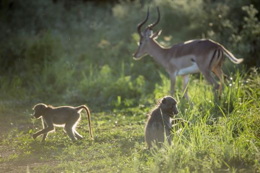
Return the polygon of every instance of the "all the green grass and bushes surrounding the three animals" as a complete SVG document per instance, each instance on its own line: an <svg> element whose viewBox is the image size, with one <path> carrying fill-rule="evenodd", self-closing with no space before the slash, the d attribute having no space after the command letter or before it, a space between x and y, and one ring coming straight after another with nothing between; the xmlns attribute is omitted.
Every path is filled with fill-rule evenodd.
<svg viewBox="0 0 260 173"><path fill-rule="evenodd" d="M245 58L244 67L225 62L218 104L202 75L189 82L190 102L177 79L179 117L191 126L154 150L144 143L146 115L170 82L152 58L131 55L148 4L150 22L160 8L155 29L164 46L209 38ZM259 7L256 0L0 1L0 172L259 172ZM45 143L33 140L42 127L29 115L39 102L88 105L94 140L85 114L82 141L71 143L61 128Z"/></svg>

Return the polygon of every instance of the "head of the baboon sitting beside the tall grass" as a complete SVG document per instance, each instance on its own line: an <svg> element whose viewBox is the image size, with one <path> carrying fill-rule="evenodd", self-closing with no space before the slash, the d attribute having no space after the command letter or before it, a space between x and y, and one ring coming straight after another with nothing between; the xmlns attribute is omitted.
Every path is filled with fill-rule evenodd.
<svg viewBox="0 0 260 173"><path fill-rule="evenodd" d="M179 113L177 110L177 101L171 96L165 96L161 99L160 108L162 112L168 113L171 118Z"/></svg>

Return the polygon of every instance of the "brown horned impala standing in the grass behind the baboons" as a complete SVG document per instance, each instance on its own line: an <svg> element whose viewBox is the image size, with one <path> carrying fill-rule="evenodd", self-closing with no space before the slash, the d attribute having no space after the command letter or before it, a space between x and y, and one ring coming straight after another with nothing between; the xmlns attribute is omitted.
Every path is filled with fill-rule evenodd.
<svg viewBox="0 0 260 173"><path fill-rule="evenodd" d="M216 90L221 93L223 84L223 72L221 69L224 61L224 54L235 64L239 64L243 59L237 59L223 45L212 40L200 39L190 40L183 43L177 43L171 47L163 47L156 39L161 33L161 30L153 33L152 29L160 20L160 12L157 7L157 21L148 25L141 32L141 27L149 18L149 8L144 21L138 24L137 31L140 36L138 48L133 54L135 60L140 60L144 55L151 55L155 61L161 64L169 74L171 87L170 93L174 94L174 86L176 76L182 76L184 96L189 99L187 94L187 84L190 74L202 72L205 79L213 86L213 92L216 100ZM212 76L212 71L220 80L220 85ZM185 90L186 89L186 90Z"/></svg>

